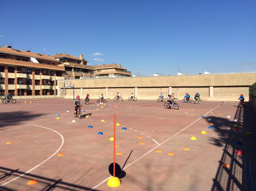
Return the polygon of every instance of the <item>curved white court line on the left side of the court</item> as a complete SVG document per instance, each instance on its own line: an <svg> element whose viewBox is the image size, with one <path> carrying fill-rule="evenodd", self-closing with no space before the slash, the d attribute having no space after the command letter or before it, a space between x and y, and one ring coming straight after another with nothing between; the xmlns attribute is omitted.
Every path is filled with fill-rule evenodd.
<svg viewBox="0 0 256 191"><path fill-rule="evenodd" d="M7 122L0 122L0 123L7 123ZM10 124L28 125L28 124L20 124L20 123L10 123ZM52 131L58 133L58 134L61 136L61 138L62 138L62 143L61 143L59 149L58 149L57 151L55 151L55 153L52 154L50 157L48 157L46 160L44 160L42 163L40 163L40 164L38 164L37 166L31 168L31 169L28 170L27 172L24 172L23 174L17 176L16 178L13 178L12 180L10 180L10 181L8 181L8 182L5 182L4 184L0 185L0 187L5 186L6 184L8 184L8 183L10 183L10 182L12 182L12 181L14 181L14 180L16 180L16 179L18 179L18 178L24 176L25 174L31 172L32 170L34 170L34 169L36 169L37 167L39 167L39 166L41 166L42 164L44 164L46 161L48 161L48 160L51 159L53 156L55 156L55 155L59 152L59 150L62 148L62 146L63 146L63 144L64 144L64 138L63 138L62 134L59 133L58 131L53 130L53 129L50 129L50 128L47 128L47 127L39 126L39 125L29 125L29 126L42 127L42 128L49 129L49 130L52 130Z"/></svg>

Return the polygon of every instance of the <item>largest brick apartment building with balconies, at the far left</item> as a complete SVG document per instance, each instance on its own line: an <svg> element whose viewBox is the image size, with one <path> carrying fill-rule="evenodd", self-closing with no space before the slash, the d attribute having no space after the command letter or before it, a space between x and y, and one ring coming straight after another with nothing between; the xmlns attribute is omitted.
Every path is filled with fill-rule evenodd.
<svg viewBox="0 0 256 191"><path fill-rule="evenodd" d="M0 95L56 97L57 80L64 79L65 72L60 64L45 54L0 47Z"/></svg>

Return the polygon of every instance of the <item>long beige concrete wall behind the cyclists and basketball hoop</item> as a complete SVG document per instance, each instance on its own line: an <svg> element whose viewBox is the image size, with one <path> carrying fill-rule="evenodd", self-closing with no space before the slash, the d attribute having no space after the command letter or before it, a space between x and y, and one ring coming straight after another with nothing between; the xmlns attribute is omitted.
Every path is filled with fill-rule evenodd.
<svg viewBox="0 0 256 191"><path fill-rule="evenodd" d="M202 100L237 101L243 93L249 100L249 86L255 82L256 72L198 74L179 76L122 77L58 80L59 87L64 81L71 81L74 94L84 98L87 93L95 99L103 93L104 98L113 99L119 92L123 99L133 93L138 99L157 99L162 89L164 97L174 92L182 99L185 93L194 97L196 92ZM63 90L64 88L60 88ZM65 98L73 98L73 89L65 89Z"/></svg>

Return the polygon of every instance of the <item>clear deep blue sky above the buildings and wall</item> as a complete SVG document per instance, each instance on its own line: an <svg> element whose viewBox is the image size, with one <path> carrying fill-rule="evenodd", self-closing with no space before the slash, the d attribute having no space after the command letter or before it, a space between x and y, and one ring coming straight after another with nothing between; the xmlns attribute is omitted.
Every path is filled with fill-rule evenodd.
<svg viewBox="0 0 256 191"><path fill-rule="evenodd" d="M256 1L1 1L0 46L132 73L255 72ZM45 50L43 50L45 49ZM95 56L93 54L96 54ZM245 64L245 65L241 65Z"/></svg>

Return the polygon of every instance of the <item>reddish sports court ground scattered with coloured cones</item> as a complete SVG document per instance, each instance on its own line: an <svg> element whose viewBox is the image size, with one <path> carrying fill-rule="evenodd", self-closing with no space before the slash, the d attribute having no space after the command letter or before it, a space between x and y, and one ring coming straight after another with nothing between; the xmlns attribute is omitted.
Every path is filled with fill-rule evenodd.
<svg viewBox="0 0 256 191"><path fill-rule="evenodd" d="M255 182L256 115L248 103L239 108L238 101L177 101L174 110L153 100L107 99L103 105L91 99L90 105L83 101L82 119L74 117L73 103L0 103L0 190L247 191L248 159ZM115 131L119 187L107 186L114 114L120 124ZM32 180L37 183L29 185Z"/></svg>

